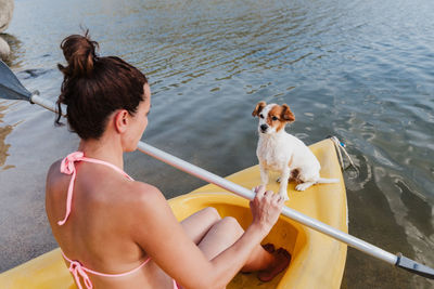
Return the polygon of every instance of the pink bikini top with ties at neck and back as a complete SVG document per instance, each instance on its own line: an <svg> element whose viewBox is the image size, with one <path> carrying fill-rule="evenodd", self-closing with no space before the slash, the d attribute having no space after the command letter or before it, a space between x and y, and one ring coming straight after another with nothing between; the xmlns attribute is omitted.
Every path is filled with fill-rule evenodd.
<svg viewBox="0 0 434 289"><path fill-rule="evenodd" d="M77 174L77 170L74 165L76 161L88 161L88 162L94 162L94 163L100 163L100 165L111 167L112 169L124 174L128 180L133 181L132 178L129 176L126 172L124 172L123 170L120 170L119 168L117 168L116 166L114 166L110 162L93 159L93 158L87 158L87 157L85 157L85 154L82 152L76 152L76 153L69 154L66 158L64 158L62 160L62 163L61 163L61 172L65 173L65 174L72 174L73 176L71 178L68 192L67 192L66 215L62 221L58 222L58 224L60 226L65 224L65 222L68 219L69 213L71 213L71 207L72 207L72 201L73 201L73 192L74 192L74 182L75 182L75 176ZM69 272L73 274L74 279L78 286L78 289L82 289L81 284L80 284L80 277L82 278L86 288L88 288L88 289L93 288L93 285L90 281L90 278L87 275L87 273L91 273L93 275L103 276L103 277L122 277L122 276L126 276L126 275L129 275L129 274L132 274L132 273L139 271L142 266L144 266L151 260L150 258L148 258L140 266L138 266L137 268L133 268L129 272L126 272L126 273L103 274L103 273L99 273L99 272L95 272L95 271L85 267L78 261L73 261L73 260L68 259L63 252L62 252L62 255L63 255L63 258L65 258L66 261L68 261L71 263ZM174 284L175 284L175 281L174 281Z"/></svg>

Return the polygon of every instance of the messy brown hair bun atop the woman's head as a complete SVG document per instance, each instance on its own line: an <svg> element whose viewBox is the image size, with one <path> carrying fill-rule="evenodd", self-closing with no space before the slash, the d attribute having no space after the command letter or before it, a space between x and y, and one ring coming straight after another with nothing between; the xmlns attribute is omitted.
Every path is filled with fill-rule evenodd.
<svg viewBox="0 0 434 289"><path fill-rule="evenodd" d="M85 36L68 36L61 43L68 66L59 64L59 69L66 77L89 76L97 60L95 48L98 47L98 42L90 40L89 30L86 30Z"/></svg>

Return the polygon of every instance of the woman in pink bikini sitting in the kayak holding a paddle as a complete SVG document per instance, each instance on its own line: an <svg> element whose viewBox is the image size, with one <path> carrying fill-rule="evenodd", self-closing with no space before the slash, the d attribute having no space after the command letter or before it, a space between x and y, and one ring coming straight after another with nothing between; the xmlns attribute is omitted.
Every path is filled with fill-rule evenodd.
<svg viewBox="0 0 434 289"><path fill-rule="evenodd" d="M261 280L284 270L288 252L259 245L281 212L278 195L255 189L245 232L213 208L179 223L156 187L123 171L123 153L136 149L148 126L151 91L137 68L98 57L97 45L88 32L61 44L68 65L59 65L58 104L81 141L47 178L48 219L77 286L224 288L240 270L259 271Z"/></svg>

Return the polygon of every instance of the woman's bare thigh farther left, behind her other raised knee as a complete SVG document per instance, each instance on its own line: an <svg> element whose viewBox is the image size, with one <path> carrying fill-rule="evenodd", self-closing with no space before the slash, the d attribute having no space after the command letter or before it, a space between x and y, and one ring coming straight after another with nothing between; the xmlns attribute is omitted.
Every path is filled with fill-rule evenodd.
<svg viewBox="0 0 434 289"><path fill-rule="evenodd" d="M186 218L181 221L181 225L187 235L195 242L199 244L205 234L217 222L221 220L215 208L208 207L199 212Z"/></svg>

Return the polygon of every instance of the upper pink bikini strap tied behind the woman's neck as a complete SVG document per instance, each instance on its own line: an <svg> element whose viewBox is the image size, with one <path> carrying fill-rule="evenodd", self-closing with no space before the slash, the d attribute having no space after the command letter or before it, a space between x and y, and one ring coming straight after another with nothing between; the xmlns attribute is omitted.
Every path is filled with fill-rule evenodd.
<svg viewBox="0 0 434 289"><path fill-rule="evenodd" d="M68 186L68 192L67 192L67 197L66 197L66 214L65 218L62 221L59 221L58 224L62 226L65 224L66 220L69 216L71 213L71 207L73 202L73 191L74 191L74 182L75 182L75 176L77 175L77 170L75 168L75 162L76 161L88 161L88 162L93 162L93 163L99 163L99 165L104 165L107 166L115 171L122 173L125 175L128 180L132 180L131 176L129 176L126 172L114 166L113 163L110 163L107 161L94 159L94 158L87 158L85 157L85 154L82 152L75 152L69 155L67 155L61 163L61 172L65 174L72 174L71 181L69 181L69 186Z"/></svg>

